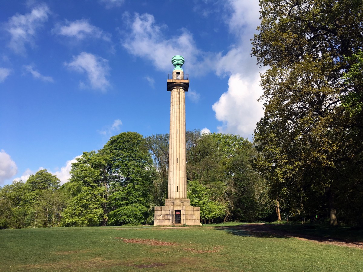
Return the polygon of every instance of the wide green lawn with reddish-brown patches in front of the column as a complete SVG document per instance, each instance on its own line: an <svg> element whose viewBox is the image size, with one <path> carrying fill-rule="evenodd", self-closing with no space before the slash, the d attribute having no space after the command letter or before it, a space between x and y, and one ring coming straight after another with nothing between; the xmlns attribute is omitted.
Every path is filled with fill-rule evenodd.
<svg viewBox="0 0 363 272"><path fill-rule="evenodd" d="M0 230L0 271L363 271L361 249L257 237L236 225Z"/></svg>

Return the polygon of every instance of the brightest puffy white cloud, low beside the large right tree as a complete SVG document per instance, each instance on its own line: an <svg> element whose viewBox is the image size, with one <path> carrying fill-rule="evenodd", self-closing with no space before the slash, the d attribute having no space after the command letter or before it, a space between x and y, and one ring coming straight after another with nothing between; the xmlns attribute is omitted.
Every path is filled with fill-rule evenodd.
<svg viewBox="0 0 363 272"><path fill-rule="evenodd" d="M228 91L212 106L217 120L223 122L219 132L252 138L256 122L263 115L262 103L257 101L262 93L259 80L246 81L240 74L229 78Z"/></svg>

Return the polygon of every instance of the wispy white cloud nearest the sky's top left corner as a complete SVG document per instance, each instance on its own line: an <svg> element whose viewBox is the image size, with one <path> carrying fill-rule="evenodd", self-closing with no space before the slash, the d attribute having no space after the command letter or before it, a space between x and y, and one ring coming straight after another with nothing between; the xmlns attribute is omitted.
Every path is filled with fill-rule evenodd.
<svg viewBox="0 0 363 272"><path fill-rule="evenodd" d="M25 54L25 45L30 44L34 46L34 37L38 28L48 20L50 13L47 5L40 5L25 15L16 14L12 16L7 24L5 30L9 32L11 39L8 44L17 54Z"/></svg>

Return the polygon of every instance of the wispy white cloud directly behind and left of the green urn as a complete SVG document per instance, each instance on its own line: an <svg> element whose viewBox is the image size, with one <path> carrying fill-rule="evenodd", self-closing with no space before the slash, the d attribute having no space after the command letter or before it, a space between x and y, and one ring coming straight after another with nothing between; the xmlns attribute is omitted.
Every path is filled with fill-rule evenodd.
<svg viewBox="0 0 363 272"><path fill-rule="evenodd" d="M209 53L197 49L193 36L186 29L179 29L178 35L167 39L164 37L165 25L158 25L154 16L144 13L135 14L132 20L128 19L131 32L126 35L122 45L132 55L145 58L159 70L171 71L171 58L182 55L187 60L188 72L198 74L206 73L205 67L211 58ZM203 69L202 69L203 68Z"/></svg>

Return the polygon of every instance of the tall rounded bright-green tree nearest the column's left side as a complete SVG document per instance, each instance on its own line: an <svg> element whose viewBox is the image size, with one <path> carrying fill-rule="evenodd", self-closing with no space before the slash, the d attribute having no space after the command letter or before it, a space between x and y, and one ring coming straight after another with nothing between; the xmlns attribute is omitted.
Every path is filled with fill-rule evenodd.
<svg viewBox="0 0 363 272"><path fill-rule="evenodd" d="M156 171L142 135L123 132L100 151L111 162L109 223L144 223L151 211Z"/></svg>

